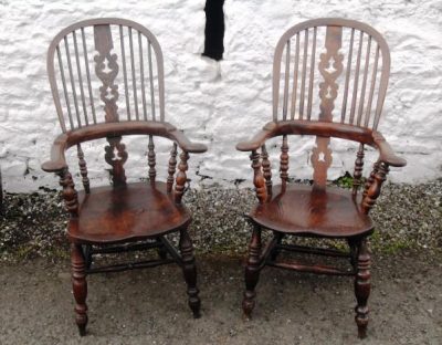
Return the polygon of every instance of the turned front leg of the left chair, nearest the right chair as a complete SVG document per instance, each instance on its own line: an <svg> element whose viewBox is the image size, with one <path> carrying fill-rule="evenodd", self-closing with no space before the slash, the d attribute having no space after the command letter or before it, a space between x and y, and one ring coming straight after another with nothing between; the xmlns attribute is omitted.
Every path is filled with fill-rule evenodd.
<svg viewBox="0 0 442 345"><path fill-rule="evenodd" d="M180 230L180 251L182 258L182 272L187 283L187 294L189 296L189 306L193 313L194 318L199 318L201 301L198 296L199 290L197 288L197 265L193 257L193 245L187 229Z"/></svg>

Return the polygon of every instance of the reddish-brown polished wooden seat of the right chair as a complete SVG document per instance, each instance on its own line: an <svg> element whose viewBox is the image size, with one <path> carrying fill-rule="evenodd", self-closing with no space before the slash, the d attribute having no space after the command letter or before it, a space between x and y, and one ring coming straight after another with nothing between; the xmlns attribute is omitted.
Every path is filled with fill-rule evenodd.
<svg viewBox="0 0 442 345"><path fill-rule="evenodd" d="M291 234L329 238L364 236L372 229L351 191L328 187L327 191L309 186L273 187L272 199L259 203L251 218L261 227Z"/></svg>

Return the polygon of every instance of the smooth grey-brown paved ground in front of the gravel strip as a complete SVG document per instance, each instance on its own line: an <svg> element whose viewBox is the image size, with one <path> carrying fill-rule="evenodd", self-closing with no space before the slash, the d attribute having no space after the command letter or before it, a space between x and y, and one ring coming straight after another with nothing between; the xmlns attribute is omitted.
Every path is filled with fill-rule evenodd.
<svg viewBox="0 0 442 345"><path fill-rule="evenodd" d="M88 278L88 334L74 324L69 262L0 263L0 344L442 344L442 257L375 255L368 337L357 339L350 278L266 268L244 321L238 259L198 257L202 316L177 266Z"/></svg>

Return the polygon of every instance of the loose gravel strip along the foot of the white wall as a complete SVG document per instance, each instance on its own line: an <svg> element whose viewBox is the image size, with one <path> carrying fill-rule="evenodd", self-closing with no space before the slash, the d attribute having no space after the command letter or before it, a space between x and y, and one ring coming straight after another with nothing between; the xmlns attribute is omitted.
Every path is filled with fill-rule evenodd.
<svg viewBox="0 0 442 345"><path fill-rule="evenodd" d="M186 205L193 215L190 231L197 252L244 253L251 229L243 215L255 202L251 189L189 189ZM65 257L66 215L61 205L53 190L7 194L0 218L2 260ZM371 215L378 229L371 239L375 251L441 251L442 179L417 186L386 184Z"/></svg>

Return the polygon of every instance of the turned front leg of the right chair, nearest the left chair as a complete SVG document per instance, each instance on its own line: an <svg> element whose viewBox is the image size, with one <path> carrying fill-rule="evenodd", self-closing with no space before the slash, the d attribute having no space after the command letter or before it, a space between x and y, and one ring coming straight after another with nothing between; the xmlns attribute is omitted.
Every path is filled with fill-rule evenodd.
<svg viewBox="0 0 442 345"><path fill-rule="evenodd" d="M249 244L249 258L245 266L245 292L242 301L242 310L244 316L252 317L252 311L255 306L255 288L260 279L261 271L261 228L255 224L252 233L252 239Z"/></svg>

